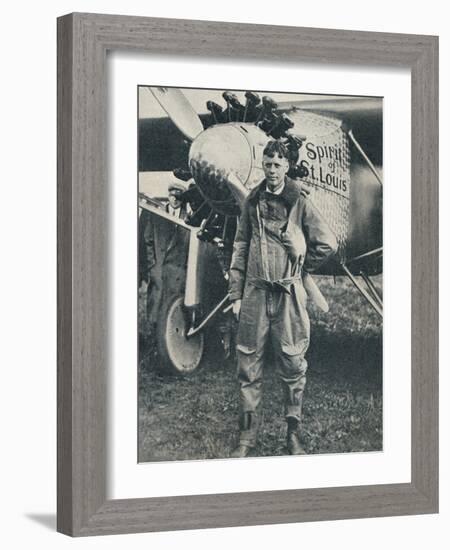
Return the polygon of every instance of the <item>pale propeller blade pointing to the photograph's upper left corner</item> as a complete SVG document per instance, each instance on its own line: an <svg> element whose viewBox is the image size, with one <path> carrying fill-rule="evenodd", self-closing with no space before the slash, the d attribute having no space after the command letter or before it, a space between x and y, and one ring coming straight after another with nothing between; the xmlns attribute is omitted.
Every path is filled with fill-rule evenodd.
<svg viewBox="0 0 450 550"><path fill-rule="evenodd" d="M203 132L203 124L186 96L177 88L147 88L161 105L175 126L190 141Z"/></svg>

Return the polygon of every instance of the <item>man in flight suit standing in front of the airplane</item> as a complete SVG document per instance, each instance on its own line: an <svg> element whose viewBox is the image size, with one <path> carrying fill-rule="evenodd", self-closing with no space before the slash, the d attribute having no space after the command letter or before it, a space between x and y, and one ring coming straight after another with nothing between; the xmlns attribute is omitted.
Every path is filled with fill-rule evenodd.
<svg viewBox="0 0 450 550"><path fill-rule="evenodd" d="M269 141L263 153L265 179L241 212L230 268L230 297L239 319L240 439L232 457L256 444L266 343L283 385L290 454L303 454L299 424L306 382L309 318L302 271L312 272L337 249L329 226L287 177L289 152ZM267 365L269 366L269 365Z"/></svg>

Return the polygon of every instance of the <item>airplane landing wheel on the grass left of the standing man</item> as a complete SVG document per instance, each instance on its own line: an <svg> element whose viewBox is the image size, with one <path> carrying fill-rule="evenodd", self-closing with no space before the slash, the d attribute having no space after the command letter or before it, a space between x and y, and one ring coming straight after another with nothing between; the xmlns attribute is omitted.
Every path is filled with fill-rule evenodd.
<svg viewBox="0 0 450 550"><path fill-rule="evenodd" d="M161 308L158 320L158 353L165 367L177 374L190 374L203 356L203 334L186 338L186 314L182 296L175 296Z"/></svg>

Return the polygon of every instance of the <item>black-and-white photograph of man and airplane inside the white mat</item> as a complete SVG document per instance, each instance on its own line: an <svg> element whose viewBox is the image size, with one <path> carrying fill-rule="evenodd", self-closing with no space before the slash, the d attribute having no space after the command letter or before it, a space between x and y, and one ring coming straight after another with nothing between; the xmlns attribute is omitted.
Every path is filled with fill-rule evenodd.
<svg viewBox="0 0 450 550"><path fill-rule="evenodd" d="M138 87L138 460L383 450L383 99Z"/></svg>

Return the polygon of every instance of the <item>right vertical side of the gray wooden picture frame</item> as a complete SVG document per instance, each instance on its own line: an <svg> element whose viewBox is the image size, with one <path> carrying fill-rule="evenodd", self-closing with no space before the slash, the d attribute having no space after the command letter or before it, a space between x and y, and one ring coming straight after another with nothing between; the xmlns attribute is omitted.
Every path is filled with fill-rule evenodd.
<svg viewBox="0 0 450 550"><path fill-rule="evenodd" d="M412 479L438 507L438 41L412 78Z"/></svg>

